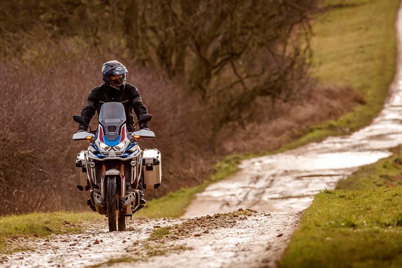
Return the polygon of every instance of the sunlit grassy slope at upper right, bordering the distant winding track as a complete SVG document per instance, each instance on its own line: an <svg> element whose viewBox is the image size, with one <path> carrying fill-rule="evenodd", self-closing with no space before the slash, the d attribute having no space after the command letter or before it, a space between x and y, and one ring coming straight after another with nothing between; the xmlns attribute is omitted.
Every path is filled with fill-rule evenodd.
<svg viewBox="0 0 402 268"><path fill-rule="evenodd" d="M395 73L395 18L400 0L325 0L313 21L311 74L323 84L352 86L365 99L338 120L310 127L292 149L328 136L344 135L371 122L381 110Z"/></svg>

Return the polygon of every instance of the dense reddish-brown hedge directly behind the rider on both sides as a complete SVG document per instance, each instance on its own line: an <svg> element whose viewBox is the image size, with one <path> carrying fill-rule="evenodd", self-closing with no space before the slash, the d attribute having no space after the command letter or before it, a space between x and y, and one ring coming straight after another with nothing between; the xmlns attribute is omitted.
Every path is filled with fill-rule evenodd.
<svg viewBox="0 0 402 268"><path fill-rule="evenodd" d="M0 159L0 214L85 207L85 195L75 188L74 163L76 153L87 144L71 139L77 130L72 115L85 105L90 89L96 86L94 80L101 83L100 66L83 61L58 64L47 71L0 67L8 73L1 78L0 89L0 146L4 152ZM154 115L151 127L157 138L140 141L140 145L156 147L163 154L164 183L158 194L197 183L213 161L202 160L208 149L199 129L206 125L194 109L197 100L185 98L180 88L163 76L128 68L128 81L140 89ZM92 123L96 125L96 117Z"/></svg>

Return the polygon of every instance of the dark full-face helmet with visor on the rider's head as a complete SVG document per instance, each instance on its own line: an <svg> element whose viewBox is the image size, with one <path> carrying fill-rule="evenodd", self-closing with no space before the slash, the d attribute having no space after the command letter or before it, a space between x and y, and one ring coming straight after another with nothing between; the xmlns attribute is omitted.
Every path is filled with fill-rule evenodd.
<svg viewBox="0 0 402 268"><path fill-rule="evenodd" d="M103 63L103 81L118 90L121 90L126 85L126 73L128 73L126 67L117 60L111 60Z"/></svg>

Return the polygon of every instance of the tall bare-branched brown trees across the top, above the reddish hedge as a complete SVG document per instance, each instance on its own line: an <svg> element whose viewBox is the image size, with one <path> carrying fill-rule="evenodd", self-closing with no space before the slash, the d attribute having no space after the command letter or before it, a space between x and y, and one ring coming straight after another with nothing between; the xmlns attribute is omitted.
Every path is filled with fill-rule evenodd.
<svg viewBox="0 0 402 268"><path fill-rule="evenodd" d="M62 53L69 57L71 51L119 51L119 58L129 58L137 66L182 79L183 89L208 104L212 131L217 132L248 112L255 98L287 100L304 88L309 16L316 3L10 0L0 10L0 46L6 55L18 53L25 62ZM63 49L52 49L61 43ZM49 67L46 62L45 66Z"/></svg>

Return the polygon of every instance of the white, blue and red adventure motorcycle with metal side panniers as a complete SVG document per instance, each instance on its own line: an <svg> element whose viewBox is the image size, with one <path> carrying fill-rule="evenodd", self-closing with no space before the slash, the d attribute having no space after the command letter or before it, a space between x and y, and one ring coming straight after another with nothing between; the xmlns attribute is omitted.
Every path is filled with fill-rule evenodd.
<svg viewBox="0 0 402 268"><path fill-rule="evenodd" d="M143 115L137 124L151 118L151 115ZM74 115L73 119L86 124L81 116ZM157 149L141 150L137 143L140 138L154 137L151 130L127 131L126 114L120 102L107 102L101 106L96 131L90 128L90 132L73 135L75 141L90 141L88 150L77 155L77 188L90 190L88 205L93 211L106 215L110 232L124 231L126 217L139 210L140 183L144 189L160 186L160 152Z"/></svg>

